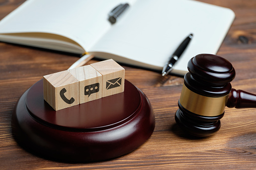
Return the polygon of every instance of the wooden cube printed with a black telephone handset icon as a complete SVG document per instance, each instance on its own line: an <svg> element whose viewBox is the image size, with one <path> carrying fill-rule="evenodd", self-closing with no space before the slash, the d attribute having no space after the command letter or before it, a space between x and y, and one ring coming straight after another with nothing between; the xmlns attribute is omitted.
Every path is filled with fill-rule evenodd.
<svg viewBox="0 0 256 170"><path fill-rule="evenodd" d="M67 70L43 76L44 100L54 110L79 104L79 81Z"/></svg>

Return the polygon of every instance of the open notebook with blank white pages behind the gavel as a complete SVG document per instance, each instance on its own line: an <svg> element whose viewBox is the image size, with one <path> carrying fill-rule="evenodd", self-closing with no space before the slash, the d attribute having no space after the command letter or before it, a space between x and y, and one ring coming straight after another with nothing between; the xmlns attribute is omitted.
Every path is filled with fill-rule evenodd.
<svg viewBox="0 0 256 170"><path fill-rule="evenodd" d="M112 25L108 14L120 3L130 8ZM190 58L217 52L233 19L230 9L193 0L29 0L0 22L0 41L161 70L192 33L173 70L184 75Z"/></svg>

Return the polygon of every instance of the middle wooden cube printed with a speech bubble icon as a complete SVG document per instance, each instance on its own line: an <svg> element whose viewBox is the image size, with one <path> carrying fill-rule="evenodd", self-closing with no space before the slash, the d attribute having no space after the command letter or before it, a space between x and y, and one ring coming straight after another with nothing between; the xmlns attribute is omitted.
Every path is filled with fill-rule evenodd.
<svg viewBox="0 0 256 170"><path fill-rule="evenodd" d="M68 70L79 81L79 103L102 97L102 75L92 66Z"/></svg>

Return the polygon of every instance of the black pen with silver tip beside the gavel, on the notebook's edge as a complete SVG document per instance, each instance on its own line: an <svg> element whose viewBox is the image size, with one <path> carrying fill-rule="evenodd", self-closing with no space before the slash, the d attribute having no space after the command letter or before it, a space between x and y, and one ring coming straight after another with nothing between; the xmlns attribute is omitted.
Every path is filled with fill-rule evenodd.
<svg viewBox="0 0 256 170"><path fill-rule="evenodd" d="M193 38L193 34L190 34L177 48L172 57L169 58L169 61L164 65L162 69L162 76L169 74L170 71L173 70L174 64L181 57L182 53L188 47L190 40Z"/></svg>

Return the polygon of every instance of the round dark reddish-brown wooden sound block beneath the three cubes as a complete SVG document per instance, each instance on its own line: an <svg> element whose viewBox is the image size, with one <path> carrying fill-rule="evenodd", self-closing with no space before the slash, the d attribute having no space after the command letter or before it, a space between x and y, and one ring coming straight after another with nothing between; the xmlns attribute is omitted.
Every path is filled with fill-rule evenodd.
<svg viewBox="0 0 256 170"><path fill-rule="evenodd" d="M143 144L155 126L145 94L125 80L125 91L55 111L43 81L18 100L12 130L18 143L48 159L85 162L114 158Z"/></svg>

